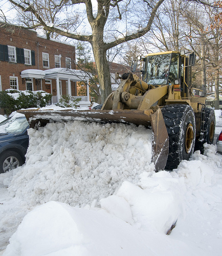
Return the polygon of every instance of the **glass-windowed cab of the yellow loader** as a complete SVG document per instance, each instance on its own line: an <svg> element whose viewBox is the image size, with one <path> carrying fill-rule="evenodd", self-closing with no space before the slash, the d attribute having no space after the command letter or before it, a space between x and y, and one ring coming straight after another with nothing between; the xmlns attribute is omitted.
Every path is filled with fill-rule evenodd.
<svg viewBox="0 0 222 256"><path fill-rule="evenodd" d="M173 85L175 98L191 98L191 66L195 55L185 52L148 54L143 61L142 80L153 87Z"/></svg>

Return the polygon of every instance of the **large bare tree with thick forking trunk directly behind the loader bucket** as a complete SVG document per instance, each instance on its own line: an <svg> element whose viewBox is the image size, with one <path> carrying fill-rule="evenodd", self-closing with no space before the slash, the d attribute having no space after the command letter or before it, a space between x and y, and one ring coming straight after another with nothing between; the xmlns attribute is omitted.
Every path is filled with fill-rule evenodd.
<svg viewBox="0 0 222 256"><path fill-rule="evenodd" d="M73 38L80 41L90 42L94 58L96 62L96 68L98 71L100 90L101 90L101 100L104 102L105 98L111 92L111 83L109 76L109 67L108 61L106 58L106 52L108 49L116 47L123 42L139 38L150 31L151 24L153 22L153 18L160 7L160 5L164 2L164 0L152 0L152 1L139 1L139 0L98 0L96 11L93 9L92 2L89 0L61 0L61 1L46 1L54 4L59 11L63 11L63 15L65 15L65 8L71 8L73 12L78 12L82 6L85 8L85 13L87 15L87 23L91 27L91 33L84 35L78 33L77 31L70 32L68 30L57 27L57 20L55 18L55 23L52 25L48 24L48 19L45 13L42 13L36 6L36 4L41 3L41 1L25 1L25 0L9 0L16 8L20 8L24 13L30 13L34 15L36 24L33 26L41 26L43 29L49 32L57 33L62 36L66 36L69 38ZM81 8L80 8L81 4ZM138 4L138 8L135 6ZM128 17L130 12L125 12L126 7L129 5L133 5L134 15ZM132 7L132 6L131 6ZM140 7L140 8L139 8ZM44 7L42 7L44 8ZM148 10L148 16L144 16L142 10ZM50 10L53 11L53 8L50 7ZM129 8L128 8L129 10ZM116 11L116 12L114 12ZM137 14L135 12L138 11ZM108 30L106 31L107 19L110 13L110 17L112 17L113 23L113 32L115 34L108 34ZM47 14L48 15L48 14ZM58 15L58 14L57 14ZM123 18L124 22L123 22ZM118 20L121 21L118 24ZM126 20L126 23L125 23ZM67 20L67 24L69 24ZM106 24L107 23L107 24ZM79 25L80 26L80 25ZM125 33L123 33L122 29L120 31L120 27L125 29ZM132 29L136 29L134 32L129 31ZM106 40L105 36L109 36L112 40ZM112 38L111 38L112 36ZM108 39L108 38L107 38Z"/></svg>

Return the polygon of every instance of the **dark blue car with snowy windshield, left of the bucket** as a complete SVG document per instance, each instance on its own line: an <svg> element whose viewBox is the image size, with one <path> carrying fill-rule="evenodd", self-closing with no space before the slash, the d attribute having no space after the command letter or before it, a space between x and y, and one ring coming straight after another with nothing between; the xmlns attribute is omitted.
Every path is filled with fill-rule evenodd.
<svg viewBox="0 0 222 256"><path fill-rule="evenodd" d="M24 115L16 114L0 123L0 173L25 163L29 146L28 128Z"/></svg>

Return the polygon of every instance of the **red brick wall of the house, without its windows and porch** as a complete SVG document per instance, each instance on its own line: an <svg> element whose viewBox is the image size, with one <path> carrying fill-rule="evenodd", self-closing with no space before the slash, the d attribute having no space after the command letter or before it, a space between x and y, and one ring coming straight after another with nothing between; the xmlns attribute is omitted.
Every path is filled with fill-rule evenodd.
<svg viewBox="0 0 222 256"><path fill-rule="evenodd" d="M43 68L42 52L49 54L49 68L55 68L55 55L61 55L61 68L65 68L65 57L71 58L71 68L75 69L75 47L62 44L57 41L47 40L37 36L35 31L20 28L18 26L5 25L0 23L0 46L12 46L18 49L28 49L34 52L34 65L24 63L14 63L0 60L0 76L2 80L2 90L10 88L10 76L18 78L18 90L27 90L26 81L20 76L21 71L26 69ZM39 81L39 80L37 80ZM45 80L42 81L42 90L47 91ZM62 82L62 95L66 94L66 81ZM48 86L49 87L49 86ZM72 95L76 95L76 84L71 82ZM33 78L33 90L40 89ZM52 79L52 94L56 95L56 80Z"/></svg>

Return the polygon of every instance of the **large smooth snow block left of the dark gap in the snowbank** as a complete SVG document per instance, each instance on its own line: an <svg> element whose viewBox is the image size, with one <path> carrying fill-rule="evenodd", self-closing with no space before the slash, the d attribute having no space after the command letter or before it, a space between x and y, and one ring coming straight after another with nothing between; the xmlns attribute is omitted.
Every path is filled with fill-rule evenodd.
<svg viewBox="0 0 222 256"><path fill-rule="evenodd" d="M117 196L130 205L134 222L143 230L166 233L183 210L179 182L167 172L144 174L138 185L123 182Z"/></svg>

